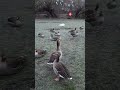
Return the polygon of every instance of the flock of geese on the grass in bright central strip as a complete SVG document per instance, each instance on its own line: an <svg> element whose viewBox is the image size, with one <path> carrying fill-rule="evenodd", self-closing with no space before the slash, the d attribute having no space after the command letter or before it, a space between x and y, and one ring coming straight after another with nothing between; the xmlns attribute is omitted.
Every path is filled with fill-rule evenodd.
<svg viewBox="0 0 120 90"><path fill-rule="evenodd" d="M80 30L84 29L84 27L80 27ZM55 52L53 52L49 58L49 61L47 64L53 65L53 71L56 74L56 81L59 81L60 78L65 78L71 80L72 77L70 76L69 70L66 68L66 66L59 62L62 58L62 50L61 50L61 34L60 32L55 31L55 29L50 29L50 40L51 41L56 41L57 49ZM72 35L72 37L77 37L78 36L78 31L75 28L74 30L70 30L68 33ZM38 37L44 38L45 35L42 33L38 34ZM40 58L43 57L47 53L47 50L41 50L41 49L35 49L35 57Z"/></svg>

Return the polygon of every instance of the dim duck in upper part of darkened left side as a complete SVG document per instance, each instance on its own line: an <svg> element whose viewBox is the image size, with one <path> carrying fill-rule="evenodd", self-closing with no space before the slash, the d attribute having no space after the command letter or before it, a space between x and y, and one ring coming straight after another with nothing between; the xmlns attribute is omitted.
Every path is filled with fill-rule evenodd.
<svg viewBox="0 0 120 90"><path fill-rule="evenodd" d="M13 16L8 18L8 24L12 27L21 27L23 23L20 20L20 17Z"/></svg>

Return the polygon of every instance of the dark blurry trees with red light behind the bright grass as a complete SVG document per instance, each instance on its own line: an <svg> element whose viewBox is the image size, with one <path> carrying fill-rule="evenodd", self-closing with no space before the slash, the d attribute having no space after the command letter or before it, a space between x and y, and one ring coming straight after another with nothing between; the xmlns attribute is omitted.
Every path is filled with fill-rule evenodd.
<svg viewBox="0 0 120 90"><path fill-rule="evenodd" d="M35 0L36 18L84 18L85 0Z"/></svg>

